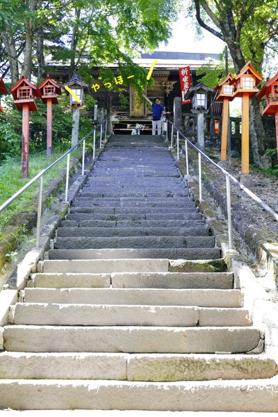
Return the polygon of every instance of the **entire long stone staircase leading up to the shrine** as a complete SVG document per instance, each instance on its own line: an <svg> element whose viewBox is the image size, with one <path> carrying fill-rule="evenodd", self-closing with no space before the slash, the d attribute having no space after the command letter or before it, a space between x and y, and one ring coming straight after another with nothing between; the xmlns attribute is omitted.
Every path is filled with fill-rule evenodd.
<svg viewBox="0 0 278 417"><path fill-rule="evenodd" d="M114 136L10 307L0 408L277 412L262 338L163 140Z"/></svg>

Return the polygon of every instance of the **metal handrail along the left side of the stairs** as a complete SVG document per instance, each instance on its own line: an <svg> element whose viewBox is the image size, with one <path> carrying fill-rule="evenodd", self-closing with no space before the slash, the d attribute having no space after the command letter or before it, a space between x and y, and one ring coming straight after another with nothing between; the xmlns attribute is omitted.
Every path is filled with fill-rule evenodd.
<svg viewBox="0 0 278 417"><path fill-rule="evenodd" d="M1 206L0 206L0 213L1 211L3 211L5 208L7 208L8 206L10 206L10 204L12 204L18 197L19 195L22 195L22 193L24 193L24 191L26 191L28 188L30 188L33 183L35 183L35 181L37 181L38 179L40 179L40 187L39 187L39 196L38 196L38 215L37 215L37 236L36 236L36 246L39 245L39 240L40 240L40 219L41 219L41 215L42 215L42 189L43 189L43 176L44 174L49 171L51 169L51 167L54 167L54 165L56 165L57 163L59 163L60 161L62 161L63 158L65 158L65 156L67 156L67 176L66 176L66 185L65 185L65 202L67 202L67 198L68 198L68 188L69 188L69 180L70 180L70 154L71 152L76 149L76 147L78 147L81 143L83 143L83 153L82 153L82 175L84 175L84 168L85 168L85 140L92 135L92 133L94 134L94 143L93 143L93 159L95 159L95 134L96 131L98 129L99 126L101 126L101 132L100 132L100 147L101 147L101 136L102 136L102 125L105 124L105 136L104 136L104 140L106 139L106 133L107 133L107 122L108 120L103 120L100 124L97 124L97 126L95 126L94 129L92 129L92 131L90 131L90 133L88 133L88 135L84 136L84 138L82 138L81 140L79 140L78 143L76 143L76 145L74 145L73 147L71 147L67 152L65 152L65 154L63 154L62 156L60 156L60 158L56 159L56 161L54 161L53 163L51 163L51 165L49 165L48 167L44 168L44 170L40 171L37 175L35 175L35 177L33 177L33 179L31 179L31 181L28 181L28 183L25 184L25 186L23 186L22 188L20 188L20 190L17 191L17 193L15 193L14 195L12 195L12 197L10 197L6 202L4 202Z"/></svg>

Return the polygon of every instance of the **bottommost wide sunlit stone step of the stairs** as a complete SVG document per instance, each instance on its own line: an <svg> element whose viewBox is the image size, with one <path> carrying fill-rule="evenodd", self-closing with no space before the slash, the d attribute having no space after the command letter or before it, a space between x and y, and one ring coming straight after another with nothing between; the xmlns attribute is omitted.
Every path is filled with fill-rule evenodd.
<svg viewBox="0 0 278 417"><path fill-rule="evenodd" d="M3 379L0 391L1 409L8 409L13 404L13 409L19 410L278 412L278 376L248 382Z"/></svg>

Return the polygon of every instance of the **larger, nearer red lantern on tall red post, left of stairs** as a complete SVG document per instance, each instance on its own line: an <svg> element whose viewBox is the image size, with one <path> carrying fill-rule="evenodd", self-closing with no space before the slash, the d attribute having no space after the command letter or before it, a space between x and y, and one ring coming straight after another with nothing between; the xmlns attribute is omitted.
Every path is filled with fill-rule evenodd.
<svg viewBox="0 0 278 417"><path fill-rule="evenodd" d="M22 178L28 177L28 158L29 158L29 112L38 111L35 105L35 97L40 98L38 87L30 83L22 76L10 92L15 99L15 106L18 111L22 111Z"/></svg>

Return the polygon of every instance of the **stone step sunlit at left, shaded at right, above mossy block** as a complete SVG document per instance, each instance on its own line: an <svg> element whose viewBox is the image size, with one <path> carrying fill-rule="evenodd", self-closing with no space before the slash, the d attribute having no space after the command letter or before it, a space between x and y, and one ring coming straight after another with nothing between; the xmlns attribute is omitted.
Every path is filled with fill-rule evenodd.
<svg viewBox="0 0 278 417"><path fill-rule="evenodd" d="M224 265L219 247L210 249L203 248L202 252L196 249L56 249L49 250L49 259L183 259L197 260L204 268L202 260L218 260L222 267ZM192 268L193 265L190 265ZM197 268L197 265L195 265ZM206 268L205 268L206 269ZM211 269L209 269L211 270Z"/></svg>

